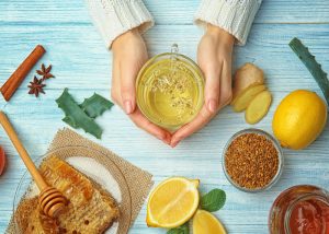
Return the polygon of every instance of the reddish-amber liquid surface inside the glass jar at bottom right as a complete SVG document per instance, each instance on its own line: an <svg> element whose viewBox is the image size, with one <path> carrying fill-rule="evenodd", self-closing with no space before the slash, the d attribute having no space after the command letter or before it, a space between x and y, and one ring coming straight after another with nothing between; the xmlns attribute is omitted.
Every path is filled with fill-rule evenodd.
<svg viewBox="0 0 329 234"><path fill-rule="evenodd" d="M292 211L290 229L292 234L328 234L329 204L316 199L299 201Z"/></svg>

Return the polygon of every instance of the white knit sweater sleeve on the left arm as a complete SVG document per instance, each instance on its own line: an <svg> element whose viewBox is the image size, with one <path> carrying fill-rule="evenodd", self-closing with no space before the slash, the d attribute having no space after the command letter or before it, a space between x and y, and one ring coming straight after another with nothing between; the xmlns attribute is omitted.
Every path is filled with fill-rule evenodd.
<svg viewBox="0 0 329 234"><path fill-rule="evenodd" d="M154 19L141 0L87 0L90 15L106 47L123 33L138 27L145 32Z"/></svg>

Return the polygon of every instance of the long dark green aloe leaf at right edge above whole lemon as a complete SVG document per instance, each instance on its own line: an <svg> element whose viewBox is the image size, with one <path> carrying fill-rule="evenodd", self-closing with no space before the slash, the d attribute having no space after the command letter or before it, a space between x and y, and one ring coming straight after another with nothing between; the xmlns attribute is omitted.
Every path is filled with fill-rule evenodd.
<svg viewBox="0 0 329 234"><path fill-rule="evenodd" d="M308 48L304 46L298 38L293 38L290 42L290 47L311 73L311 75L320 86L329 105L329 81L327 73L321 68L321 65L317 62L315 56L309 52Z"/></svg>

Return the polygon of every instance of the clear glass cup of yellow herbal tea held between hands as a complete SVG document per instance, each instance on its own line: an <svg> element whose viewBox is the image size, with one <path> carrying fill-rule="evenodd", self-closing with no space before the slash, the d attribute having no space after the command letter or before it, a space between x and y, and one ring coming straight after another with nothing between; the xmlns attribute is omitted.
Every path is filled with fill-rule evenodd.
<svg viewBox="0 0 329 234"><path fill-rule="evenodd" d="M204 103L204 78L189 57L160 54L147 61L136 80L137 105L154 124L174 131L192 121Z"/></svg>

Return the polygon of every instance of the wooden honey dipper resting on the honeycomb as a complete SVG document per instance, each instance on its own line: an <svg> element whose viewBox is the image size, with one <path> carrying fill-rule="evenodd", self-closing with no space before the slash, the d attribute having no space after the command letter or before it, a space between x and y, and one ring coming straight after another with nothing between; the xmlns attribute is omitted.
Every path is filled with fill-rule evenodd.
<svg viewBox="0 0 329 234"><path fill-rule="evenodd" d="M2 125L8 137L18 150L21 159L23 160L34 182L41 190L38 197L41 209L46 215L50 218L57 218L66 208L66 197L64 197L63 194L56 188L48 186L47 183L44 180L43 176L39 174L38 169L29 156L27 151L24 149L15 130L13 129L12 125L10 124L9 119L7 118L3 112L0 112L0 124Z"/></svg>

